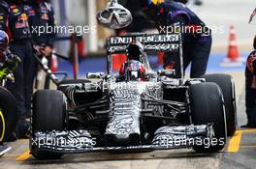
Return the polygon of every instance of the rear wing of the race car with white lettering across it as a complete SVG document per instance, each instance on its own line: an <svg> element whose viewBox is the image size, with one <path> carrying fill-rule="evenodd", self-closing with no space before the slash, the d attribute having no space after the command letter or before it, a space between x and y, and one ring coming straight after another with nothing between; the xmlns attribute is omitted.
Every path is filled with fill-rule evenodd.
<svg viewBox="0 0 256 169"><path fill-rule="evenodd" d="M113 36L107 39L106 49L108 55L108 72L112 74L112 54L125 53L127 45L131 42L142 42L144 52L179 52L180 64L183 68L182 43L180 34L142 34L133 33L125 36ZM181 69L181 73L183 69Z"/></svg>

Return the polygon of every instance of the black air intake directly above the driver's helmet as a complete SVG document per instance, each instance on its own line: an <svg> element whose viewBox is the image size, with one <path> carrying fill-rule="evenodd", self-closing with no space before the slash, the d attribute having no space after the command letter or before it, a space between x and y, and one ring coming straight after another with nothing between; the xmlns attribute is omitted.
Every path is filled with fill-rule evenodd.
<svg viewBox="0 0 256 169"><path fill-rule="evenodd" d="M132 42L126 48L128 60L141 61L144 54L144 45L141 42Z"/></svg>

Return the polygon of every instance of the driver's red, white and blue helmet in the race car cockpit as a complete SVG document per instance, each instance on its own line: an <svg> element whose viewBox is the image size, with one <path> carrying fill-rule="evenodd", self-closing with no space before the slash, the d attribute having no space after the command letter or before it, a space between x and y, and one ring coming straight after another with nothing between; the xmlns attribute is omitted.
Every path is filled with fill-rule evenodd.
<svg viewBox="0 0 256 169"><path fill-rule="evenodd" d="M144 65L136 60L123 63L119 73L121 79L126 81L144 81L145 79Z"/></svg>

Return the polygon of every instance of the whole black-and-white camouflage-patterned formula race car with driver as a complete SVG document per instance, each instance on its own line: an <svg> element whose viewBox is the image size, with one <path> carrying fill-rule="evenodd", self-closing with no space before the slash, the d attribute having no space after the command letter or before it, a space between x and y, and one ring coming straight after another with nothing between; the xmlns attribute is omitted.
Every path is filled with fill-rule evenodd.
<svg viewBox="0 0 256 169"><path fill-rule="evenodd" d="M108 71L65 80L33 98L30 150L38 159L87 152L193 148L221 151L236 129L232 77L173 78L150 69L146 52L179 52L179 35L131 34L107 40ZM127 54L119 74L112 54ZM182 68L182 67L181 67Z"/></svg>

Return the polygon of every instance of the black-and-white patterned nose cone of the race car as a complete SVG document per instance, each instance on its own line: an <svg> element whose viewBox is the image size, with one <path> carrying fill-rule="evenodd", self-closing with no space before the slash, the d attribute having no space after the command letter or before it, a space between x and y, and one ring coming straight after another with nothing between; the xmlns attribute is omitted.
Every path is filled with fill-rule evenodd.
<svg viewBox="0 0 256 169"><path fill-rule="evenodd" d="M110 121L105 131L108 146L140 144L141 96L135 89L114 89L110 94Z"/></svg>

